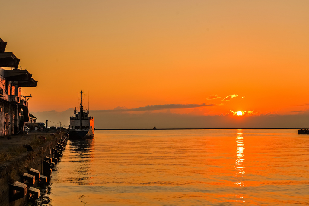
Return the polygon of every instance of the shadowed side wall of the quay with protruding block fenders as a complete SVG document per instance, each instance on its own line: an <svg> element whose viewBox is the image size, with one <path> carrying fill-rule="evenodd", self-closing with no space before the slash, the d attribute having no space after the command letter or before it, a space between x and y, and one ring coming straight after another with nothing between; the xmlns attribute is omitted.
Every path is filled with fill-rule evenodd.
<svg viewBox="0 0 309 206"><path fill-rule="evenodd" d="M45 143L22 153L18 157L0 165L0 205L21 206L40 196L36 187L44 187L50 181L54 165L58 162L67 137L54 136ZM29 148L27 148L29 149Z"/></svg>

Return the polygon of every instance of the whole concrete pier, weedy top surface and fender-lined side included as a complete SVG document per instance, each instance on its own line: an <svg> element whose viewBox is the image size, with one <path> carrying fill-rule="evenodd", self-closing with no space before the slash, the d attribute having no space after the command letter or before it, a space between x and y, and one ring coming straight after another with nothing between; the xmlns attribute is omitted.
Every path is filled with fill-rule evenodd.
<svg viewBox="0 0 309 206"><path fill-rule="evenodd" d="M60 160L60 148L64 149L67 140L65 133L50 135L36 132L36 138L33 138L33 134L0 137L2 157L7 158L19 152L5 162L0 160L0 205L21 206L37 199L40 190L36 187L42 187L50 181L51 164L54 167ZM46 142L40 141L42 138L39 139L39 136L45 136ZM22 145L31 145L32 151Z"/></svg>

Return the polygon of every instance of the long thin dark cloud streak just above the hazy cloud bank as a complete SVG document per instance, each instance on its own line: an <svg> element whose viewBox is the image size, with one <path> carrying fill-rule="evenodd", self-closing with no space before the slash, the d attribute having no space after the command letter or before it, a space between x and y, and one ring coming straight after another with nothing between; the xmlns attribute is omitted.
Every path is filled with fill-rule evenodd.
<svg viewBox="0 0 309 206"><path fill-rule="evenodd" d="M131 112L131 111L153 111L160 109L188 109L196 107L215 106L215 104L166 104L166 105L147 105L145 107L137 107L128 109L126 107L116 107L115 109L100 110L102 112Z"/></svg>

